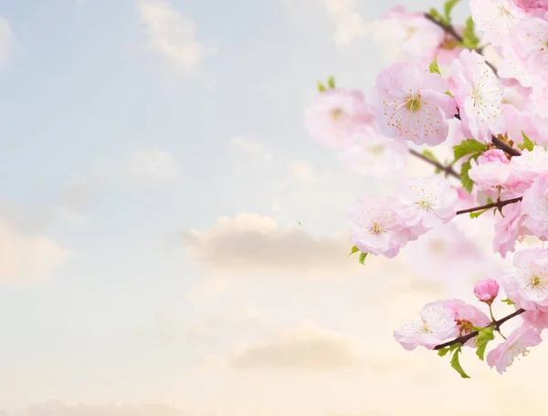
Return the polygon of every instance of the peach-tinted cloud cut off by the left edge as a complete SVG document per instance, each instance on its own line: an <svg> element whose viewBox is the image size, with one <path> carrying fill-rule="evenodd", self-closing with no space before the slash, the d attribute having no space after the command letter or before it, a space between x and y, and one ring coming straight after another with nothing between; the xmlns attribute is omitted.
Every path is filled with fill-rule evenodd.
<svg viewBox="0 0 548 416"><path fill-rule="evenodd" d="M26 286L47 280L68 250L40 234L0 222L0 284Z"/></svg>

